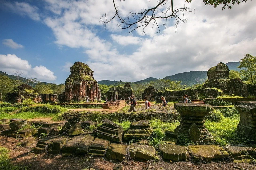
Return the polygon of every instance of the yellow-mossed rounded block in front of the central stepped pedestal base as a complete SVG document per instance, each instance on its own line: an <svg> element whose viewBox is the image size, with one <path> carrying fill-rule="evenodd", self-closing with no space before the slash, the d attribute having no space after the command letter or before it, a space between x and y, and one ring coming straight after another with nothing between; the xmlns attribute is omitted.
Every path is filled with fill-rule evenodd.
<svg viewBox="0 0 256 170"><path fill-rule="evenodd" d="M155 148L149 145L132 145L129 148L131 159L136 160L154 160L159 159L156 155Z"/></svg>

